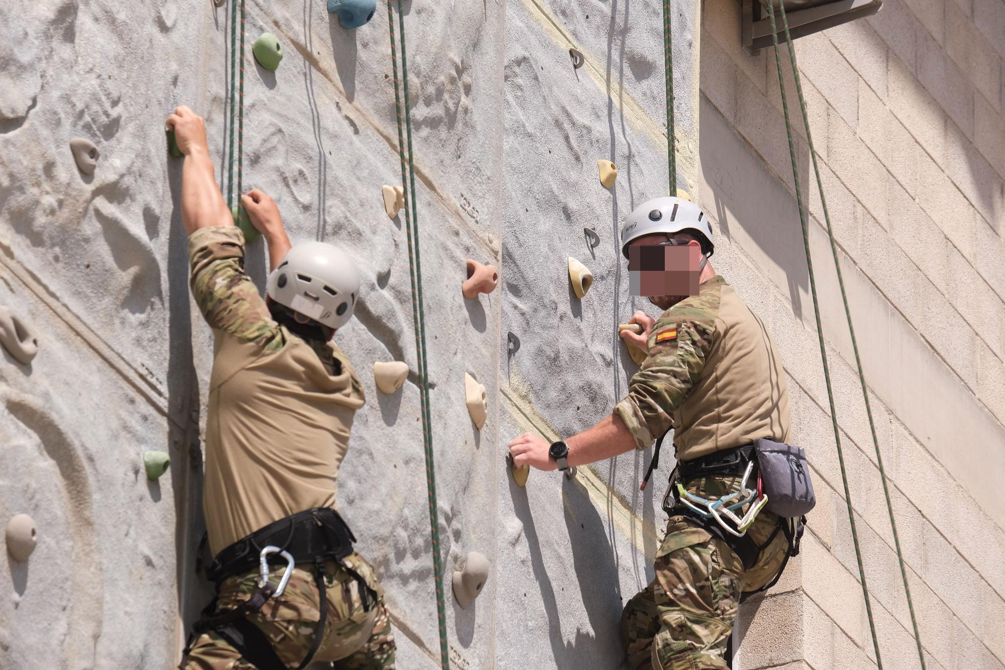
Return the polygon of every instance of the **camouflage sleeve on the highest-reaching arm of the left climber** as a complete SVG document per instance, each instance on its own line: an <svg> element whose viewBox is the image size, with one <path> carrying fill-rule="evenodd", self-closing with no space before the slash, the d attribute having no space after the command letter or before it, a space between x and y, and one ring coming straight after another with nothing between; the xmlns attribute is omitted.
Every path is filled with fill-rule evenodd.
<svg viewBox="0 0 1005 670"><path fill-rule="evenodd" d="M266 346L281 338L258 288L244 273L237 226L199 228L189 236L192 294L210 327Z"/></svg>

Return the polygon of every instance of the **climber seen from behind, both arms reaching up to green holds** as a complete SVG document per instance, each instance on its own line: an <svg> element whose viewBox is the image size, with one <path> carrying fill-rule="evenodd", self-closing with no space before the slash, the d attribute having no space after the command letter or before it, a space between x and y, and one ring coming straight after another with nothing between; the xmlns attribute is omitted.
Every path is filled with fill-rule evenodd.
<svg viewBox="0 0 1005 670"><path fill-rule="evenodd" d="M217 596L181 667L393 668L383 592L335 509L364 397L331 339L353 315L359 274L337 247L290 247L275 203L251 191L241 204L272 268L262 299L244 273L244 236L216 186L205 123L181 106L167 125L185 156L192 293L216 341L203 504Z"/></svg>

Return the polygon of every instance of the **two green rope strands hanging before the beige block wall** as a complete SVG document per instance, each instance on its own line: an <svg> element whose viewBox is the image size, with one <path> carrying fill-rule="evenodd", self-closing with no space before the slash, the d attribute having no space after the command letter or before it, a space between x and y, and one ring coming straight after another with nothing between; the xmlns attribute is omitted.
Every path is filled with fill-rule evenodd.
<svg viewBox="0 0 1005 670"><path fill-rule="evenodd" d="M844 484L844 498L848 507L848 520L851 523L851 537L855 544L855 559L858 562L858 573L862 581L862 595L865 598L865 611L866 614L868 615L869 630L872 634L872 648L875 651L876 655L876 667L879 668L879 670L882 670L882 660L879 657L879 642L876 638L875 623L872 619L872 607L869 603L869 592L865 584L865 572L862 567L862 552L858 544L858 532L855 529L855 518L851 507L851 494L848 491L848 477L844 468L844 454L842 453L841 450L840 433L837 427L837 414L834 410L834 393L830 386L830 373L827 368L827 353L824 348L823 328L820 325L820 306L817 302L816 282L813 278L813 263L810 259L809 227L807 223L806 214L803 212L802 197L800 195L800 190L799 190L799 170L798 170L798 164L796 162L795 141L792 137L792 125L789 122L789 107L785 99L785 78L782 74L782 60L778 48L778 28L775 24L775 9L773 5L774 2L767 3L769 17L771 19L771 36L775 47L775 65L778 68L778 83L782 93L782 108L785 113L785 129L789 136L789 156L792 160L792 177L796 190L796 206L799 208L799 220L802 224L802 229L803 229L803 243L806 248L806 265L809 269L810 289L813 295L813 310L816 315L817 337L820 341L820 356L823 359L824 379L827 382L827 399L830 402L831 423L833 424L834 428L834 439L837 443L838 462L840 463L841 466L841 480ZM915 616L915 605L911 599L911 587L908 584L908 573L907 569L904 568L903 554L900 550L900 539L897 536L896 521L893 518L893 505L890 502L889 486L886 481L886 472L883 469L882 456L879 453L879 440L876 437L875 423L872 419L872 409L871 406L869 405L869 396L865 387L865 374L862 371L862 362L861 358L858 355L858 344L855 341L855 329L851 322L851 310L848 308L848 297L844 290L844 279L842 278L841 275L841 265L837 254L837 242L834 240L834 231L830 225L830 214L827 211L827 201L824 198L823 194L823 182L820 180L820 168L817 164L816 151L813 149L813 136L810 133L809 115L806 111L806 99L803 96L803 87L799 78L799 67L796 64L796 52L792 48L792 35L789 32L789 21L785 16L785 5L782 2L779 2L778 5L782 15L782 25L785 28L785 39L789 50L789 57L792 63L792 73L796 83L796 91L799 94L799 107L800 110L802 111L803 127L806 130L806 142L809 145L810 158L813 161L813 172L816 176L817 188L819 189L820 193L820 205L821 208L823 209L824 221L827 226L827 237L830 240L830 249L834 257L834 268L837 270L837 283L841 289L841 301L844 304L844 315L848 321L848 332L851 336L851 348L855 355L855 365L858 369L858 380L861 383L862 387L862 398L865 400L865 413L868 416L869 430L872 433L872 445L875 448L876 465L878 466L879 476L880 479L882 480L883 494L886 497L886 511L889 514L889 523L890 527L893 530L893 544L896 548L897 561L900 564L900 577L903 580L903 591L908 598L908 609L911 612L911 624L915 630L915 642L918 645L918 658L922 663L922 670L925 670L926 668L925 653L922 649L922 638L918 631L918 620Z"/></svg>

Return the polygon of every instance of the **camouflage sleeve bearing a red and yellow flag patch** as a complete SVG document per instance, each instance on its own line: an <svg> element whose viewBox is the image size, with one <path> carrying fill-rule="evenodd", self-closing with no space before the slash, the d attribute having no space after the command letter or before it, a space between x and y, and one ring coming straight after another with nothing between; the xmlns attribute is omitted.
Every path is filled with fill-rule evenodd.
<svg viewBox="0 0 1005 670"><path fill-rule="evenodd" d="M667 310L652 326L649 356L631 378L628 395L614 407L637 449L645 449L672 426L670 417L690 393L712 350L715 316L681 311Z"/></svg>

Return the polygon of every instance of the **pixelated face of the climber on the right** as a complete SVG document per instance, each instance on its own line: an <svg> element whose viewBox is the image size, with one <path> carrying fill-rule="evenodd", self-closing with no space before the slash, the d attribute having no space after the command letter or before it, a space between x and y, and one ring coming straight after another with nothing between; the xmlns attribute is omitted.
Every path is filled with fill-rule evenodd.
<svg viewBox="0 0 1005 670"><path fill-rule="evenodd" d="M667 240L663 234L640 237L628 247L628 290L669 308L698 294L700 263L697 241Z"/></svg>

